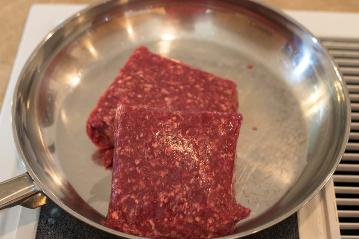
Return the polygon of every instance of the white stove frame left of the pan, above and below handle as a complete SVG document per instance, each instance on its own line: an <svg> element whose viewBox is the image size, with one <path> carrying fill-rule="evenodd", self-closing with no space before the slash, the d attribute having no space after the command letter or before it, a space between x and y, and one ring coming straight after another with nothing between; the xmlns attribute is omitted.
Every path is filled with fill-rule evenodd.
<svg viewBox="0 0 359 239"><path fill-rule="evenodd" d="M83 8L85 5L34 4L29 11L0 112L0 132L9 137L0 137L3 165L0 168L0 182L26 172L16 152L10 118L13 91L20 72L41 40L64 19ZM39 212L39 208L27 209L16 206L0 214L0 239L35 238Z"/></svg>

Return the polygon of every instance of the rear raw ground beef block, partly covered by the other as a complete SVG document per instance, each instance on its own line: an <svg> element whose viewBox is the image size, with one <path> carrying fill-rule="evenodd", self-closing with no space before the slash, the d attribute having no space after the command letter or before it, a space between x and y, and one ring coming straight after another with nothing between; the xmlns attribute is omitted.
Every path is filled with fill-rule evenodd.
<svg viewBox="0 0 359 239"><path fill-rule="evenodd" d="M101 150L113 148L114 118L121 101L172 110L233 113L238 108L236 83L153 54L146 47L135 49L87 120L87 134ZM110 166L112 157L106 155L105 166Z"/></svg>

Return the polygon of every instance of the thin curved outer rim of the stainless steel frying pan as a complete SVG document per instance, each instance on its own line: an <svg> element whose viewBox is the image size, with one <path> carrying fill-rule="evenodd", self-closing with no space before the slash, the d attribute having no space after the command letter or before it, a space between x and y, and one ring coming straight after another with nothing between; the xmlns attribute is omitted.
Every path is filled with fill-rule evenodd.
<svg viewBox="0 0 359 239"><path fill-rule="evenodd" d="M309 37L314 37L314 35L312 33L310 33L306 28L304 28L300 23L298 23L296 20L292 19L290 16L286 15L285 13L283 13L283 11L281 10L277 10L265 3L262 3L261 1L258 0L246 0L248 2L251 3L256 3L259 4L261 6L263 6L264 8L266 8L266 10L270 10L272 11L274 14L286 19L286 21L288 21L289 24L293 25L294 27L299 28L304 34L308 35ZM53 29L48 35L52 35L55 34L59 29L61 29L63 27L63 25L66 25L67 23L69 23L70 21L74 20L75 18L78 18L80 15L86 14L89 10L97 8L100 5L103 4L109 4L109 3L115 3L118 2L118 0L106 0L106 1L102 1L93 5L88 6L87 8L79 11L78 13L74 14L73 16L71 16L70 18L68 18L66 21L64 21L64 23L62 23L61 25L59 25L58 27L56 27L55 29ZM236 1L231 1L233 2L233 4L236 3ZM16 117L16 106L17 106L17 92L19 90L20 84L22 82L22 79L24 78L24 74L25 72L28 70L29 65L31 64L31 62L33 61L33 59L35 58L36 54L38 53L39 49L41 49L46 42L48 41L49 38L44 38L39 45L35 48L35 50L33 51L33 53L31 54L31 56L28 58L27 62L25 63L22 72L19 75L18 78L18 82L17 85L15 86L15 90L14 90L14 96L13 96L13 101L12 101L12 109L11 109L11 121L12 121L12 129L13 129L13 136L14 136L14 142L15 142L15 146L17 148L17 151L19 153L20 158L22 159L22 162L24 163L25 167L27 168L27 171L29 173L29 175L32 177L32 179L36 182L36 184L41 188L41 190L43 192L45 192L46 196L50 197L50 199L55 202L57 205L59 205L62 209L64 209L67 213L75 216L77 219L84 221L85 223L94 226L95 228L101 229L103 231L106 231L108 233L117 235L117 236L122 236L124 238L136 238L136 239L141 239L143 237L139 237L139 236L134 236L134 235L130 235L130 234L125 234L122 233L120 231L116 231L113 229L109 229L105 226L102 226L101 224L95 223L94 221L85 218L84 216L78 214L77 212L73 211L72 209L70 209L69 207L67 207L65 204L63 204L50 190L48 190L47 187L45 187L45 185L43 185L43 183L41 182L41 180L37 177L36 173L34 172L31 164L29 164L28 159L26 157L26 154L24 153L24 146L21 145L20 143L20 139L19 139L19 133L18 133L18 128L17 128L17 117ZM330 180L331 176L333 175L335 169L337 168L337 166L339 165L340 159L344 154L345 151L345 147L346 147L346 143L348 142L349 139L349 132L350 132L350 122L351 122L351 108L350 108L350 99L349 99L349 92L348 89L346 88L346 84L342 79L341 73L338 70L338 67L336 66L335 62L333 61L333 59L331 58L331 56L327 53L327 51L325 51L325 49L321 46L320 42L316 42L315 43L320 49L323 50L323 52L325 53L325 56L327 57L328 61L330 62L333 70L336 73L336 80L339 81L340 86L341 86L341 90L342 90L342 100L344 100L345 104L345 111L346 111L346 119L343 119L343 124L345 121L345 132L342 134L342 139L340 140L340 142L337 144L338 150L336 151L336 161L334 164L334 167L330 170L330 172L328 173L328 175L326 176L326 178L323 180L322 183L320 183L320 185L316 188L316 190L314 190L309 196L307 196L300 204L298 204L297 206L293 207L291 210L289 210L287 213L285 213L284 215L276 218L275 220L272 220L268 223L262 224L260 226L257 226L255 228L252 228L250 230L241 232L241 233L236 233L236 234L232 234L229 236L223 236L221 237L222 239L235 239L235 238L239 238L242 236L247 236L253 233L256 233L258 231L264 230L266 228L269 228L272 225L275 225L277 223L279 223L280 221L288 218L290 215L294 214L298 209L300 209L300 207L306 205L324 186L325 184ZM344 109L343 109L344 111Z"/></svg>

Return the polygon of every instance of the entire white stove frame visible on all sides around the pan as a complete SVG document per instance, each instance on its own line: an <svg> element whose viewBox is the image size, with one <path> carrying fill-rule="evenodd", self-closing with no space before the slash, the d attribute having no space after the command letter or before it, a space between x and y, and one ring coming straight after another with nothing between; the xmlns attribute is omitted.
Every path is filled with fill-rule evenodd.
<svg viewBox="0 0 359 239"><path fill-rule="evenodd" d="M10 137L0 138L0 149L3 152L1 163L4 166L0 168L0 182L26 171L16 153L10 119L12 95L22 67L33 49L56 25L85 7L80 4L34 4L29 11L0 112L0 132ZM359 25L352 24L359 22L359 14L292 10L285 10L285 13L303 24L316 37L359 38ZM334 198L331 180L318 196L298 211L300 238L313 238L314 235L321 239L340 238ZM0 214L0 239L35 238L39 212L39 208L17 206Z"/></svg>

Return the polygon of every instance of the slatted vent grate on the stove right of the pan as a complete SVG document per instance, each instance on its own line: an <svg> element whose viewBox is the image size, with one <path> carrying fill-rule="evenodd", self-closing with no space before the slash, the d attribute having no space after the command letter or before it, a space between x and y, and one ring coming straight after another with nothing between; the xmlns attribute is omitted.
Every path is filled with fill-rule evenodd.
<svg viewBox="0 0 359 239"><path fill-rule="evenodd" d="M345 154L333 176L342 239L359 239L359 39L322 39L349 90L351 129Z"/></svg>

